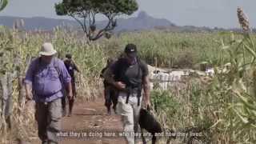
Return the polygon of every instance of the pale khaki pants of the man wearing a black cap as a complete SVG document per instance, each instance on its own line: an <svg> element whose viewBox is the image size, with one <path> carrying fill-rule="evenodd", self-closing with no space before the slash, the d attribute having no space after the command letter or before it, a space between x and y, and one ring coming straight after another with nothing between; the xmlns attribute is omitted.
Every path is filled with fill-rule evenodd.
<svg viewBox="0 0 256 144"><path fill-rule="evenodd" d="M140 98L140 103L142 103L142 97ZM128 144L135 143L135 138L131 133L138 132L138 116L140 108L141 105L138 106L137 94L130 94L129 101L126 104L126 93L119 92L117 113L122 115L124 132L130 134L126 136L126 142Z"/></svg>

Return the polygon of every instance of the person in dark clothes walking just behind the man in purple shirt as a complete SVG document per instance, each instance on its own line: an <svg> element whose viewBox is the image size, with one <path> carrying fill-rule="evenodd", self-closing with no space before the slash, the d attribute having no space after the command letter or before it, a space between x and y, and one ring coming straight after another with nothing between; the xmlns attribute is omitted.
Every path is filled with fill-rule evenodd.
<svg viewBox="0 0 256 144"><path fill-rule="evenodd" d="M76 70L78 73L80 73L80 70L78 69L78 66L75 65L74 61L72 60L71 54L66 54L66 59L64 60L64 64L66 66L66 70L69 72L71 77L71 84L72 84L72 91L73 91L73 98L69 99L69 114L70 117L72 114L72 109L74 106L74 98L76 97L76 90L75 90L75 79L74 79L74 70ZM66 115L66 98L62 98L62 109L63 109L63 115Z"/></svg>

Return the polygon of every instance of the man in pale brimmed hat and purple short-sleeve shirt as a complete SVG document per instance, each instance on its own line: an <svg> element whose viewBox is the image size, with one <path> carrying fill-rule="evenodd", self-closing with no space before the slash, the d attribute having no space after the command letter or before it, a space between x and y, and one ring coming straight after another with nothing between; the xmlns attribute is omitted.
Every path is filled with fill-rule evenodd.
<svg viewBox="0 0 256 144"><path fill-rule="evenodd" d="M62 118L63 90L66 88L68 98L72 98L70 74L64 62L54 58L57 53L54 46L46 42L26 71L26 98L36 102L36 120L38 137L42 144L58 143L56 134L60 130Z"/></svg>

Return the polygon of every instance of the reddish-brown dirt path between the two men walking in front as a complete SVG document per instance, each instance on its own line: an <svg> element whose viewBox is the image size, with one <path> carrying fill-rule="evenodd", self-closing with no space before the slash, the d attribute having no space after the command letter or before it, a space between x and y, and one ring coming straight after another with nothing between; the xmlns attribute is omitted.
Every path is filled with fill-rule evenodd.
<svg viewBox="0 0 256 144"><path fill-rule="evenodd" d="M74 114L72 117L62 118L62 130L68 132L68 137L63 135L60 144L126 144L122 137L100 138L99 133L102 131L122 130L122 122L116 114L107 115L106 107L103 106L103 99L98 98L93 102L82 102L77 100L74 104ZM80 132L79 132L80 130ZM82 131L81 131L82 130ZM87 131L85 131L87 130ZM88 136L90 132L100 130L98 136ZM70 137L70 132L76 134ZM82 138L82 134L87 134L86 138ZM90 138L90 140L88 139ZM32 142L40 144L39 140Z"/></svg>

